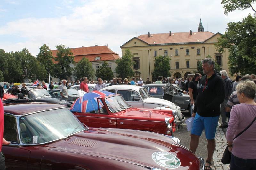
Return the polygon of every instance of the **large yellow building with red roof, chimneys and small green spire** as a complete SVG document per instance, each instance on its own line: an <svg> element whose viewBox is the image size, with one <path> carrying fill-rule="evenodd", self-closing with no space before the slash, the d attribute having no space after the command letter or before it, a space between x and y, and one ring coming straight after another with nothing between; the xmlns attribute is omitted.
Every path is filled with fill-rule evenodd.
<svg viewBox="0 0 256 170"><path fill-rule="evenodd" d="M207 55L228 72L228 52L219 53L214 47L222 34L219 32L204 32L204 27L199 22L198 32L169 32L159 34L148 34L134 37L124 43L121 47L122 54L129 48L134 55L135 62L133 70L135 78L146 80L154 70L154 58L159 55L171 58L170 67L173 77L185 77L197 70L197 64ZM228 72L229 73L229 72Z"/></svg>

